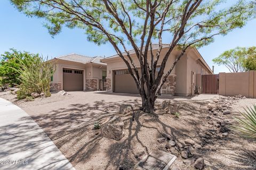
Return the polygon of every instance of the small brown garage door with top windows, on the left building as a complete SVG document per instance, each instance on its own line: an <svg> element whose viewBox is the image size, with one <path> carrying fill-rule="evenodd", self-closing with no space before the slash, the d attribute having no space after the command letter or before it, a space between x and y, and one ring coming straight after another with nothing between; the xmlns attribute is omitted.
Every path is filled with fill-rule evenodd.
<svg viewBox="0 0 256 170"><path fill-rule="evenodd" d="M83 91L83 70L63 69L63 90Z"/></svg>

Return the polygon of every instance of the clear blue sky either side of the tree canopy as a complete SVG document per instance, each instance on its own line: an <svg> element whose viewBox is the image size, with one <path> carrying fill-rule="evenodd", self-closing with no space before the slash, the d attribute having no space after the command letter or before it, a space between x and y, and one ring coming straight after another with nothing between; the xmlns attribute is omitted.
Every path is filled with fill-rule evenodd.
<svg viewBox="0 0 256 170"><path fill-rule="evenodd" d="M115 54L110 44L97 46L86 39L83 30L64 28L52 38L43 27L44 20L28 18L18 12L8 0L0 1L0 54L10 48L39 53L49 58L77 53L86 56L111 56ZM256 20L252 20L242 29L236 29L227 36L215 37L214 43L198 49L210 67L212 59L225 50L237 46L256 46ZM167 42L165 42L167 43ZM215 73L228 72L224 66L215 65Z"/></svg>

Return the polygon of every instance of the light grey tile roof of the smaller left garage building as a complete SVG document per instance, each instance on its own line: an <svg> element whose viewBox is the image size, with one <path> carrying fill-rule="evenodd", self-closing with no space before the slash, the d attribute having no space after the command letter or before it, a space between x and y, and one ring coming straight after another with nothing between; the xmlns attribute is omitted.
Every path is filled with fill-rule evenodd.
<svg viewBox="0 0 256 170"><path fill-rule="evenodd" d="M88 57L84 55L78 55L78 54L68 54L68 55L63 55L56 57L57 59L60 60L67 60L71 62L78 62L78 63L96 63L96 64L103 64L106 65L106 63L102 63L100 60L103 59L103 57L96 56L96 57Z"/></svg>

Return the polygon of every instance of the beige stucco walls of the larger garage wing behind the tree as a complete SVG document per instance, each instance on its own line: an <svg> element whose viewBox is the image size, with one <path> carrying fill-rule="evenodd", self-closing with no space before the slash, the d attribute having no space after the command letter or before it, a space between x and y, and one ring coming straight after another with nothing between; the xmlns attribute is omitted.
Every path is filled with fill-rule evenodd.
<svg viewBox="0 0 256 170"><path fill-rule="evenodd" d="M159 57L158 66L161 65L164 55L166 54L167 48L162 49L161 55ZM153 50L154 56L156 56L157 50ZM177 56L180 54L179 50L173 50L173 52L170 54L170 57L166 63L164 73L167 73L167 71L170 70L173 62L177 58ZM148 53L148 56L150 57L150 52ZM133 62L137 67L140 67L139 61L137 59L137 56L135 54L131 54L131 57L133 58ZM202 70L204 70L205 73L210 73L209 71L206 71L206 66L202 64L202 62L197 62L197 60L201 56L199 53L197 54L196 50L188 50L187 53L185 53L180 61L177 63L177 65L174 67L173 71L170 75L176 75L175 77L175 94L177 95L189 95L191 94L191 71L197 73L201 73ZM107 63L107 78L111 80L110 83L110 91L113 91L113 71L114 70L122 70L127 69L126 64L120 57L115 58L106 58L107 60L103 60L103 62ZM129 61L129 59L127 59ZM148 60L150 63L150 60ZM196 82L196 81L195 81ZM162 89L161 89L161 92Z"/></svg>

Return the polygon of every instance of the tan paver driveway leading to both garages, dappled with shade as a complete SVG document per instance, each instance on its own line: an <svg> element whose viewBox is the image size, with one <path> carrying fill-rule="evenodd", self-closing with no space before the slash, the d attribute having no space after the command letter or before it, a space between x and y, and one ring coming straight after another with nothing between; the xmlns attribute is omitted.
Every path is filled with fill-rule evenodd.
<svg viewBox="0 0 256 170"><path fill-rule="evenodd" d="M160 96L157 101L165 99L202 100L217 96ZM103 121L106 117L117 114L120 104L133 106L140 106L141 104L141 98L137 94L118 94L104 91L69 91L67 96L59 99L60 97L58 94L53 94L50 98L32 101L31 105L21 107L47 134L49 131L54 134L61 129L75 128L81 124L91 126L95 121ZM51 134L49 134L50 138Z"/></svg>

